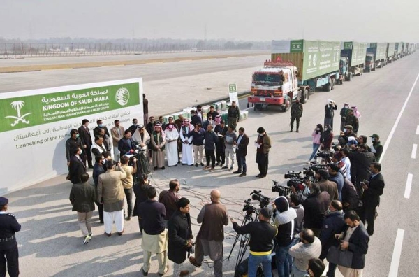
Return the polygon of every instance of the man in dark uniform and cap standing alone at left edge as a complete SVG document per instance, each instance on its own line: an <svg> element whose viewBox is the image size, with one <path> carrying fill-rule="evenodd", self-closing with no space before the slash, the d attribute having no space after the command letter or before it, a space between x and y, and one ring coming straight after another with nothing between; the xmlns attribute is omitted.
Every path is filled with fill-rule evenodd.
<svg viewBox="0 0 419 277"><path fill-rule="evenodd" d="M0 197L0 276L6 276L6 262L10 277L19 276L19 252L15 233L20 231L20 224L15 215L6 213L8 199Z"/></svg>

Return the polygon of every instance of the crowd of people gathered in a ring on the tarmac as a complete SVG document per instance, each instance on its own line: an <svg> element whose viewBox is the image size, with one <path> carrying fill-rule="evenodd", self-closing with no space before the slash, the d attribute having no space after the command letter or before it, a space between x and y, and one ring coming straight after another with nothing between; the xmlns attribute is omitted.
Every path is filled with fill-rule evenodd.
<svg viewBox="0 0 419 277"><path fill-rule="evenodd" d="M360 113L356 107L345 104L341 109L341 131L337 145L333 145L332 123L337 105L328 100L324 128L318 124L312 134L313 152L309 162L313 162L318 150L333 152L332 160L325 169L316 171L313 182L306 183L307 197L301 197L295 190L288 197L277 197L272 208L258 210L258 220L248 225L240 226L229 218L220 202L221 192L212 190L211 203L203 206L198 215L201 227L194 236L190 201L180 197L179 181L171 180L169 190L158 196L147 173L142 171L142 164L132 157L135 151L145 152L147 160L142 162L150 162L154 171L178 164L202 166L210 171L220 166L240 177L246 176L249 136L243 127L238 128L237 134L240 111L232 104L228 124L221 120L214 106L206 117L198 106L191 111L190 119L179 115L177 120L168 118L168 122L163 122L163 117L155 121L150 116L145 124L133 119L128 129L115 120L110 132L98 120L93 140L89 120L82 120L79 129L71 130L71 138L66 141L67 178L74 184L70 200L73 211L78 212L83 243L91 239L91 217L96 204L106 236L112 236L114 223L117 234L122 236L124 221L138 216L144 251L143 275L148 274L151 256L156 254L161 276L168 271L168 259L174 262L174 276L186 276L189 271L182 267L186 257L189 256L193 266L201 267L204 256L210 256L214 276L218 277L223 274L223 228L230 219L237 234L250 234L249 276L256 276L260 265L265 276L272 276L272 260L279 276L306 276L307 273L321 276L325 259L329 261L327 276L335 276L336 268L344 276L361 276L384 180L378 163L383 152L379 136L370 136L372 145L368 146L367 136L357 135ZM291 107L291 132L295 121L299 132L301 116L302 105L295 101ZM260 173L256 177L265 178L271 141L263 127L257 132L254 143ZM88 183L87 167L93 168L94 186ZM345 254L337 255L337 251Z"/></svg>

